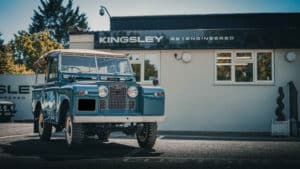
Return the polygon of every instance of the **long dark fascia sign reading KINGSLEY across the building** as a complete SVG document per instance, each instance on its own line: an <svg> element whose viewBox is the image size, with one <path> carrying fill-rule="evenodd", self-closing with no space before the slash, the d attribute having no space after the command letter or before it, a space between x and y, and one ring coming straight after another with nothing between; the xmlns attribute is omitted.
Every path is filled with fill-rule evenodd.
<svg viewBox="0 0 300 169"><path fill-rule="evenodd" d="M95 49L299 48L298 29L188 29L94 33Z"/></svg>

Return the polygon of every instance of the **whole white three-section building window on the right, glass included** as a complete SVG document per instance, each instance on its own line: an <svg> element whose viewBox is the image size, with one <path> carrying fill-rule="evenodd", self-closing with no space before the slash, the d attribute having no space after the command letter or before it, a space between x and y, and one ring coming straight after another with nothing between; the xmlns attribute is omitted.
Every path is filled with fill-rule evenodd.
<svg viewBox="0 0 300 169"><path fill-rule="evenodd" d="M272 51L217 51L215 59L218 84L273 84Z"/></svg>

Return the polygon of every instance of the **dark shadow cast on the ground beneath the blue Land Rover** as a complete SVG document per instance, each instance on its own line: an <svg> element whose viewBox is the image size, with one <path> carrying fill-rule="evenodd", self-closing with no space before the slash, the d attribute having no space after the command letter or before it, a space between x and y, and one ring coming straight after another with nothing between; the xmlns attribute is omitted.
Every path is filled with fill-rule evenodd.
<svg viewBox="0 0 300 169"><path fill-rule="evenodd" d="M38 157L47 161L81 160L81 159L113 159L122 158L137 150L138 147L118 143L103 143L98 140L87 140L75 148L68 148L64 139L41 142L38 139L28 139L11 142L10 145L0 144L3 153L14 157ZM155 150L141 149L136 156L159 156Z"/></svg>

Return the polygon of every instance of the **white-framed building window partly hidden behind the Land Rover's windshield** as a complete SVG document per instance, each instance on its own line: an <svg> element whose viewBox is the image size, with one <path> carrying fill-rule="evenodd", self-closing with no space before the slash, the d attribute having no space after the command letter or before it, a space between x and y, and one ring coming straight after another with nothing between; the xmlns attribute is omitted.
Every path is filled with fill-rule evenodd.
<svg viewBox="0 0 300 169"><path fill-rule="evenodd" d="M160 54L131 54L129 60L137 82L152 84L153 80L159 79Z"/></svg>

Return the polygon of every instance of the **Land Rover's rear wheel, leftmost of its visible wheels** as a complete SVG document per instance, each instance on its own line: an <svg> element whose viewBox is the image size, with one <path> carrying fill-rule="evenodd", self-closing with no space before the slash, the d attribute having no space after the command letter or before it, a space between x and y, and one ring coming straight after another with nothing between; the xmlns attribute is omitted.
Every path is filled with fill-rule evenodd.
<svg viewBox="0 0 300 169"><path fill-rule="evenodd" d="M42 111L40 111L39 113L38 129L39 129L40 140L49 141L52 134L52 124L45 122Z"/></svg>

